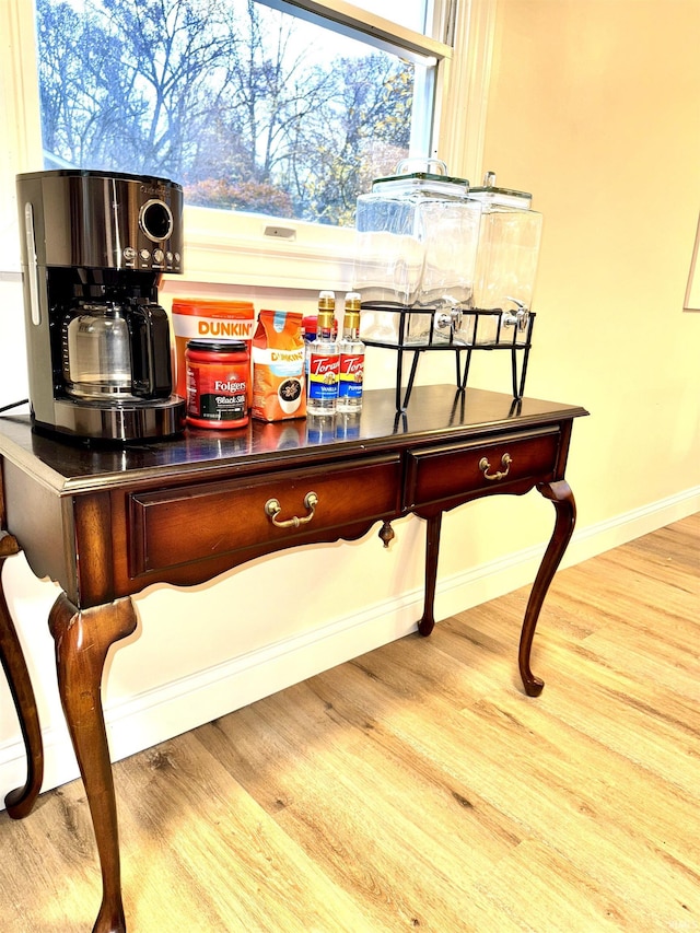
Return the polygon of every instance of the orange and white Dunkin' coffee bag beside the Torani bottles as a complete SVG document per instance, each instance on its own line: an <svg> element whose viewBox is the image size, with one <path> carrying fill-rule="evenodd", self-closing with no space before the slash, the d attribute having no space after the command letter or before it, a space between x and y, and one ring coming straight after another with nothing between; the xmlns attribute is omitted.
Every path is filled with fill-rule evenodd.
<svg viewBox="0 0 700 933"><path fill-rule="evenodd" d="M260 421L306 415L302 315L261 311L253 338L253 408Z"/></svg>

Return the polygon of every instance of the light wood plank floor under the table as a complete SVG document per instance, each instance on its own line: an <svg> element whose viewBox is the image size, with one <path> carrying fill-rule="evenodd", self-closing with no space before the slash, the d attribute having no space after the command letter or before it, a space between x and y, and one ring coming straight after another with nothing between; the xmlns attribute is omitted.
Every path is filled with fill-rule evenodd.
<svg viewBox="0 0 700 933"><path fill-rule="evenodd" d="M129 933L700 931L700 514L115 766ZM0 931L90 933L82 784L0 814Z"/></svg>

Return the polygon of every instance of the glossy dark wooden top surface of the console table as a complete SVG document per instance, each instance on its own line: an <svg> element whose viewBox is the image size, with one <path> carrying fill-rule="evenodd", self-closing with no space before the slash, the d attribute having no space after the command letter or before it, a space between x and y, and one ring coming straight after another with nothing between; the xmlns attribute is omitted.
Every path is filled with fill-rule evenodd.
<svg viewBox="0 0 700 933"><path fill-rule="evenodd" d="M448 442L587 415L580 406L451 385L417 386L406 412L397 413L394 389L365 393L358 416L337 415L335 430L311 417L266 423L250 420L234 431L187 430L182 438L106 447L45 436L27 415L0 417L0 455L32 473L59 494L133 482L138 474L166 478L189 471L259 471L295 460L320 464L387 446L402 448L431 439ZM326 422L327 424L327 422ZM313 452L313 453L312 453Z"/></svg>

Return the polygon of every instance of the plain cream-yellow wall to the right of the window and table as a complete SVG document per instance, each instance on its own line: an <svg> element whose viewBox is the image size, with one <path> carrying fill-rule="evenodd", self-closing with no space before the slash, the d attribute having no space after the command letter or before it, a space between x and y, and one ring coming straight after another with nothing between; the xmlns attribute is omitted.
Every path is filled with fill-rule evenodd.
<svg viewBox="0 0 700 933"><path fill-rule="evenodd" d="M698 0L498 0L485 165L545 214L528 394L591 525L700 483Z"/></svg>

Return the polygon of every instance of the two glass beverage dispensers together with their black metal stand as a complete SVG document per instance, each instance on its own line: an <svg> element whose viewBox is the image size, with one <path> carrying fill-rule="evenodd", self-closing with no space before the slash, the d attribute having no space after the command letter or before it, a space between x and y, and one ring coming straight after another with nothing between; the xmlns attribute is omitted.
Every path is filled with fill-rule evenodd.
<svg viewBox="0 0 700 933"><path fill-rule="evenodd" d="M401 174L407 164L358 198L362 340L397 351L397 411L408 405L427 350L455 353L460 390L474 350L506 351L513 398L522 398L541 214L532 210L530 195L495 187L491 172L469 190L466 179L446 175L444 163L431 161L435 172ZM411 368L404 392L405 353Z"/></svg>

